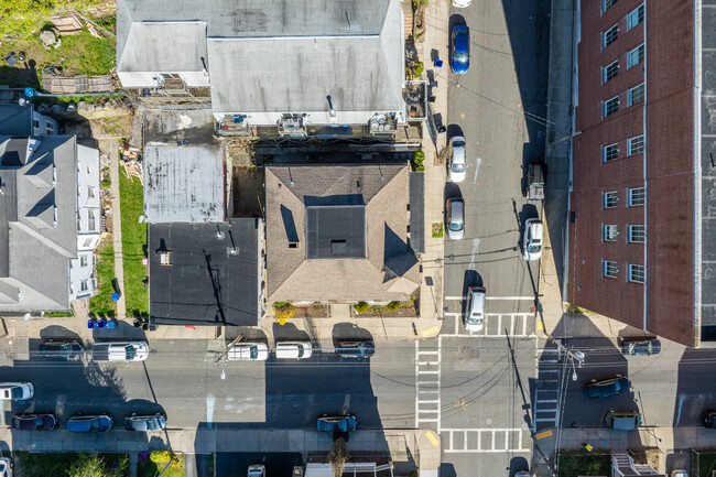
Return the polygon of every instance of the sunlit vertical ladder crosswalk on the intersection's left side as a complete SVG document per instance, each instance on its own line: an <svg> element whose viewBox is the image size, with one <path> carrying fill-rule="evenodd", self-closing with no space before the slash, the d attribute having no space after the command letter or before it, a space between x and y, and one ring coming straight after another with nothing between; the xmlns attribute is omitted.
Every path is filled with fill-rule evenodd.
<svg viewBox="0 0 716 477"><path fill-rule="evenodd" d="M441 343L437 348L421 349L415 342L415 427L434 424L440 433L441 424Z"/></svg>

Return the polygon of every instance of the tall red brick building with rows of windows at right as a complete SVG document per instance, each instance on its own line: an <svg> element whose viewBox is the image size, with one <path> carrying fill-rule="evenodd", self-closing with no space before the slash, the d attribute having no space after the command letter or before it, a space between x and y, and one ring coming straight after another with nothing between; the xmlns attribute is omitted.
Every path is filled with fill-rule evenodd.
<svg viewBox="0 0 716 477"><path fill-rule="evenodd" d="M567 300L714 342L716 0L578 3Z"/></svg>

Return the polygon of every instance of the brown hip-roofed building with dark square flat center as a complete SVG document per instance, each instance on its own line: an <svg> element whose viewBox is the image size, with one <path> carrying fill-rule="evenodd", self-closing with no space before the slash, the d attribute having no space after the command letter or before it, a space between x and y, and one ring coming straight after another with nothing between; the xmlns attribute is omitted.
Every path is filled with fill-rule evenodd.
<svg viewBox="0 0 716 477"><path fill-rule="evenodd" d="M265 167L267 300L409 300L420 286L410 246L406 164Z"/></svg>

